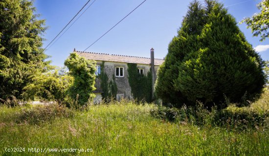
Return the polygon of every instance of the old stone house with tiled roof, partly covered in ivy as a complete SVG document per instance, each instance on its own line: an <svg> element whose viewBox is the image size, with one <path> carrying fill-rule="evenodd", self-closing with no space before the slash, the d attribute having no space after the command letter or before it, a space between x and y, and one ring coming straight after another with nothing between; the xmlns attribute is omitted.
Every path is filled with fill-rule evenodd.
<svg viewBox="0 0 269 156"><path fill-rule="evenodd" d="M151 58L142 58L142 57L134 57L134 56L122 56L122 55L110 55L103 53L90 53L90 52L80 52L74 49L74 52L78 55L85 57L86 59L95 60L96 63L96 72L97 75L95 79L95 88L96 90L93 92L95 94L94 102L98 103L102 99L101 93L102 88L100 86L101 80L98 77L101 73L101 65L104 62L104 71L107 74L109 80L112 80L114 77L114 82L117 86L117 94L116 98L129 98L132 99L132 89L130 87L128 81L128 63L137 64L137 73L141 74L141 76L145 76L150 68L152 70L152 93L156 80L156 73L158 67L164 62L163 59L154 59L154 49L151 49Z"/></svg>

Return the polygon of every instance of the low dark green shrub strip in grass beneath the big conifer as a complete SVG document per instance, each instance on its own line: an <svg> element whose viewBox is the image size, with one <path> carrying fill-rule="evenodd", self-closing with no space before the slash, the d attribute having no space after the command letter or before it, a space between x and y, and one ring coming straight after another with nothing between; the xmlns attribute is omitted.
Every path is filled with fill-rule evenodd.
<svg viewBox="0 0 269 156"><path fill-rule="evenodd" d="M249 108L248 108L249 109ZM153 117L165 119L172 122L181 122L183 124L193 124L197 126L225 127L227 130L247 130L257 126L269 128L269 113L258 113L253 110L228 109L217 110L216 107L208 111L202 103L197 102L195 107L183 106L178 108L158 107L151 110Z"/></svg>

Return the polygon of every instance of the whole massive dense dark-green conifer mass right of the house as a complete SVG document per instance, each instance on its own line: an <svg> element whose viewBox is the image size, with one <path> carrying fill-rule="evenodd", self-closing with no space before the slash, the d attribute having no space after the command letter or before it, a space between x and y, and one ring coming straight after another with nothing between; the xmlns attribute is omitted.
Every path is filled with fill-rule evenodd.
<svg viewBox="0 0 269 156"><path fill-rule="evenodd" d="M170 42L158 72L157 95L177 107L196 105L199 100L208 108L214 103L224 108L224 97L231 102L240 102L242 97L254 100L265 84L263 61L223 5L212 0L206 3L205 8L190 7L188 12L205 12L201 27L185 28L190 25L186 16ZM200 5L195 1L191 6Z"/></svg>

